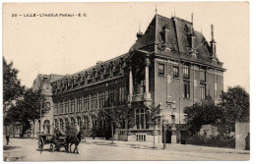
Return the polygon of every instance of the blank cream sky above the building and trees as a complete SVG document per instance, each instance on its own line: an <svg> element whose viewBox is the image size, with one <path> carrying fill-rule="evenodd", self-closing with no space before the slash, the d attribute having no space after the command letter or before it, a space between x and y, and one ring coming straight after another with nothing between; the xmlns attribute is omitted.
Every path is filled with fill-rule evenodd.
<svg viewBox="0 0 256 164"><path fill-rule="evenodd" d="M211 38L215 26L217 56L224 62L224 89L249 91L249 5L246 2L157 3L158 14L190 21ZM37 74L74 74L126 53L155 16L156 3L5 4L3 55L30 87ZM12 14L87 14L75 18L12 17Z"/></svg>

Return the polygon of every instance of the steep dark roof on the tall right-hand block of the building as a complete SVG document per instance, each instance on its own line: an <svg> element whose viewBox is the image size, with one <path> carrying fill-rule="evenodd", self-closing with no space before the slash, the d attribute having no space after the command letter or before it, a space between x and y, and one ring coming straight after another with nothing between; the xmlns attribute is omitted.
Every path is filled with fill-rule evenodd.
<svg viewBox="0 0 256 164"><path fill-rule="evenodd" d="M161 35L163 28L168 29L164 36L165 38ZM180 54L188 54L188 36L191 35L191 33L196 37L195 49L198 52L198 58L202 60L210 60L212 55L211 47L203 33L193 29L191 22L177 17L166 18L160 15L154 17L145 33L138 38L129 51L145 49L145 47L149 47L153 44L157 44L159 48L162 48L162 41L165 39L165 43L168 44L168 47L172 51ZM152 49L151 51L155 50Z"/></svg>

